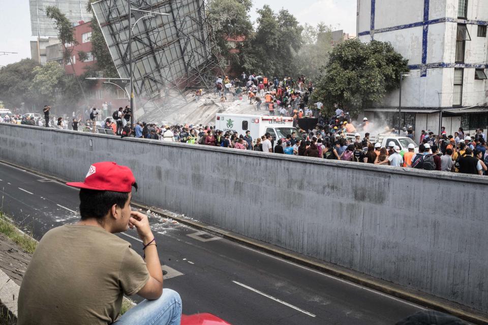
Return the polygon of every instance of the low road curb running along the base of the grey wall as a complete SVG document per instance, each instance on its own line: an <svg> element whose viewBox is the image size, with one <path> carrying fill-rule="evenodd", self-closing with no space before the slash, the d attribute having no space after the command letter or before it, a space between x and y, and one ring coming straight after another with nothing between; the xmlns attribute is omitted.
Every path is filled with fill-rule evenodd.
<svg viewBox="0 0 488 325"><path fill-rule="evenodd" d="M20 170L25 170L30 173L39 175L44 178L52 179L61 183L65 183L67 180L64 180L62 178L58 177L53 177L50 175L45 175L43 173L37 172L30 170L28 168L24 168L22 166L18 166L12 163L9 163L8 161L1 160L1 163L4 163L5 165L9 165L15 168L18 168ZM360 284L362 286L377 290L381 293L385 293L387 295L400 298L427 308L431 308L434 310L438 310L441 312L445 312L448 314L451 314L453 316L459 317L461 319L467 320L471 323L474 324L488 324L488 314L483 313L481 311L478 311L476 309L472 309L451 301L447 301L445 299L441 299L429 294L421 293L420 291L416 291L413 289L408 289L401 287L400 285L395 285L390 282L386 282L380 279L373 278L371 276L361 274L358 272L350 271L345 268L339 267L339 266L334 266L332 264L320 261L319 259L315 259L312 257L304 256L289 250L286 250L284 248L272 245L272 244L267 244L246 236L238 235L236 233L226 231L224 229L220 229L216 226L212 226L200 221L193 220L191 218L186 218L183 217L179 214L173 213L173 212L168 212L163 209L155 208L152 206L147 206L145 204L142 204L140 202L132 202L132 205L143 209L143 210L151 210L154 211L164 217L171 218L173 220L178 221L181 224L185 224L188 226L191 226L192 228L195 228L197 230L205 231L208 232L212 235L216 235L228 240L231 240L233 242L269 253L274 256L278 256L281 258L286 259L287 261L309 267L311 269L318 270L320 272Z"/></svg>

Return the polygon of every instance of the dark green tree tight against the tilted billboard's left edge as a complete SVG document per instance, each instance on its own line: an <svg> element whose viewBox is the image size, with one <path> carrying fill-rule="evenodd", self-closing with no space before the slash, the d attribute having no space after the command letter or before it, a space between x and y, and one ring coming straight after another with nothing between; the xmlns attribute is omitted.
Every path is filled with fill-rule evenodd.
<svg viewBox="0 0 488 325"><path fill-rule="evenodd" d="M95 13L92 11L92 3L98 0L90 0L86 9L88 12L92 12L93 18L90 23L92 26L92 37L90 42L92 42L92 54L97 59L97 70L101 72L102 76L105 78L118 78L118 72L113 64L112 56L108 50L107 43L103 38L102 29L98 24Z"/></svg>

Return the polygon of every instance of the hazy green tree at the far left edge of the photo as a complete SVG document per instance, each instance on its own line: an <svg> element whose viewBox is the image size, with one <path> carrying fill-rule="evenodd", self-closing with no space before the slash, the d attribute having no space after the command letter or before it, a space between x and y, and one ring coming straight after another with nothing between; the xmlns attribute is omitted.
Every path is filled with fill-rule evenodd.
<svg viewBox="0 0 488 325"><path fill-rule="evenodd" d="M36 96L29 89L34 79L34 68L39 64L32 59L23 59L0 69L0 100L7 108L36 104Z"/></svg>

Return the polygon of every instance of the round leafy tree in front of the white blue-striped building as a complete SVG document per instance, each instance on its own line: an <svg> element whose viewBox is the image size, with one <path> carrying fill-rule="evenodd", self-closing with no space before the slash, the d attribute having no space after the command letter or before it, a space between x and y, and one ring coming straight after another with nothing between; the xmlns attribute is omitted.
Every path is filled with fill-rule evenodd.
<svg viewBox="0 0 488 325"><path fill-rule="evenodd" d="M322 102L329 114L337 104L356 115L399 86L400 75L409 71L407 62L390 43L345 41L321 68L311 100Z"/></svg>

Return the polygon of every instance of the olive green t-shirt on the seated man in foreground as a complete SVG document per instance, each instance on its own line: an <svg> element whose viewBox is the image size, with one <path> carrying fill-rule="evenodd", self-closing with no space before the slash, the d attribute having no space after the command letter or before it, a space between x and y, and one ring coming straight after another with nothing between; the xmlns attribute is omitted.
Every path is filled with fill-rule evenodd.
<svg viewBox="0 0 488 325"><path fill-rule="evenodd" d="M142 257L125 240L97 226L54 228L25 272L17 324L110 324L123 295L148 280Z"/></svg>

